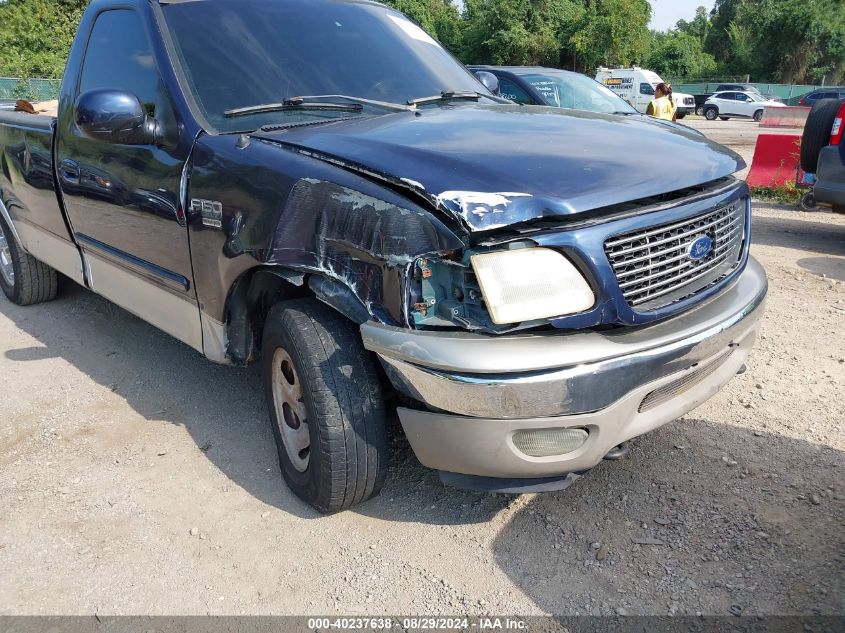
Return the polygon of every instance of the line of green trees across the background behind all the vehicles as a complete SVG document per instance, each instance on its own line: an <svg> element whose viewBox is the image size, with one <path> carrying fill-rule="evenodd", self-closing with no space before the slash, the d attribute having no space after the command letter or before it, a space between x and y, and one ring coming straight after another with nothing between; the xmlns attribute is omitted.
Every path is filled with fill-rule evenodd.
<svg viewBox="0 0 845 633"><path fill-rule="evenodd" d="M0 75L61 77L89 0L0 4ZM709 0L690 20L649 30L647 0L384 0L464 63L543 65L592 75L639 65L664 77L777 83L845 77L843 0Z"/></svg>

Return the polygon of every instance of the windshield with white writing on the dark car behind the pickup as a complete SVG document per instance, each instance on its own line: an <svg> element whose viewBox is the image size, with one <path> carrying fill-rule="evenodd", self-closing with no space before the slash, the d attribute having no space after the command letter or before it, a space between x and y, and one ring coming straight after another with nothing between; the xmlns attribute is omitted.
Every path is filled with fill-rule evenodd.
<svg viewBox="0 0 845 633"><path fill-rule="evenodd" d="M540 93L550 106L613 114L633 114L636 110L599 82L578 73L542 73L522 78Z"/></svg>

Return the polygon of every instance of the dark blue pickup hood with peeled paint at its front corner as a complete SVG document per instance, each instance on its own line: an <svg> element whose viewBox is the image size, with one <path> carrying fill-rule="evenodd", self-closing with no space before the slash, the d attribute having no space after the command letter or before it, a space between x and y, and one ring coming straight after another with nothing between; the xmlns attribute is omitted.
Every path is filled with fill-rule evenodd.
<svg viewBox="0 0 845 633"><path fill-rule="evenodd" d="M680 125L535 106L433 106L253 138L413 190L469 231L595 214L745 166Z"/></svg>

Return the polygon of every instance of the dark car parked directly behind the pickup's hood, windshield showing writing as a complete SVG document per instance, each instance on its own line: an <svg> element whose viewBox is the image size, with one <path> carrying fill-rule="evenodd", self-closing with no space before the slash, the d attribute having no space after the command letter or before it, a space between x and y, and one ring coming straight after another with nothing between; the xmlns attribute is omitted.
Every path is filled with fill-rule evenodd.
<svg viewBox="0 0 845 633"><path fill-rule="evenodd" d="M523 105L543 105L604 114L638 114L619 95L595 79L542 66L468 66L498 79L499 96Z"/></svg>

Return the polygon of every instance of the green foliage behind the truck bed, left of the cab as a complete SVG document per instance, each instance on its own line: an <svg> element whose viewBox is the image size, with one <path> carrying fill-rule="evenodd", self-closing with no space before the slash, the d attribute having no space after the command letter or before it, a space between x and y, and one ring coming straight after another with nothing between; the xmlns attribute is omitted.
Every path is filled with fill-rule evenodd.
<svg viewBox="0 0 845 633"><path fill-rule="evenodd" d="M61 77L88 0L7 0L0 4L0 74Z"/></svg>

